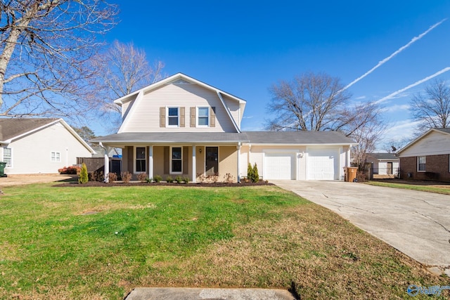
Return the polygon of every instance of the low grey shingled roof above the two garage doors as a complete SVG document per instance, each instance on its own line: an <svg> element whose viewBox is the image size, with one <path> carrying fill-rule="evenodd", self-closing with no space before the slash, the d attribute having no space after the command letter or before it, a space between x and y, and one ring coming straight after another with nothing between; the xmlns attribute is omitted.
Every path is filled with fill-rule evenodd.
<svg viewBox="0 0 450 300"><path fill-rule="evenodd" d="M250 143L296 145L356 145L338 131L245 131Z"/></svg>

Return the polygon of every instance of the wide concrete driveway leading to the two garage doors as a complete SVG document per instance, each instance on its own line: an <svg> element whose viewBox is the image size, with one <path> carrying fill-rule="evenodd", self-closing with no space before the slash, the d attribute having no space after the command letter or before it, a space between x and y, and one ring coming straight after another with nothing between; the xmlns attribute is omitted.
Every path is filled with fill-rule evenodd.
<svg viewBox="0 0 450 300"><path fill-rule="evenodd" d="M272 181L428 266L450 267L450 195L342 181Z"/></svg>

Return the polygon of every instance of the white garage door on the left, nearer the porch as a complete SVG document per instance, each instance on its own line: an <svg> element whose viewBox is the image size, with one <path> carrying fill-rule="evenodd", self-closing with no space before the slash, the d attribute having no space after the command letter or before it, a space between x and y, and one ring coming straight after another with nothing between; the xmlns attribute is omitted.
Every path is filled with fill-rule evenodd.
<svg viewBox="0 0 450 300"><path fill-rule="evenodd" d="M295 153L266 152L264 157L265 179L295 179Z"/></svg>

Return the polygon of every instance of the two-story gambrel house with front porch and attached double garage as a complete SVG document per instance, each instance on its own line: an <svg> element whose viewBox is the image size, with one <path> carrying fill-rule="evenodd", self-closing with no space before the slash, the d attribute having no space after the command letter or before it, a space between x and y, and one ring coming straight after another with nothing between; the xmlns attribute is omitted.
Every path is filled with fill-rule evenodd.
<svg viewBox="0 0 450 300"><path fill-rule="evenodd" d="M115 103L122 126L92 142L105 151L122 148L122 171L132 174L239 181L250 162L264 179L341 180L350 163L354 143L338 132L241 131L245 100L185 74Z"/></svg>

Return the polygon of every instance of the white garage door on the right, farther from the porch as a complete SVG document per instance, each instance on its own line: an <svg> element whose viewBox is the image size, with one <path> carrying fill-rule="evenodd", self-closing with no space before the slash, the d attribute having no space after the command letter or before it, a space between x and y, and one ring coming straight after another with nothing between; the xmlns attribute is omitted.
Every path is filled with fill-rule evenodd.
<svg viewBox="0 0 450 300"><path fill-rule="evenodd" d="M337 149L308 148L307 152L308 179L339 179L339 151Z"/></svg>

